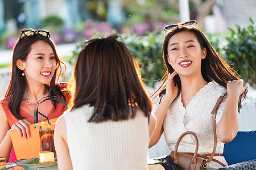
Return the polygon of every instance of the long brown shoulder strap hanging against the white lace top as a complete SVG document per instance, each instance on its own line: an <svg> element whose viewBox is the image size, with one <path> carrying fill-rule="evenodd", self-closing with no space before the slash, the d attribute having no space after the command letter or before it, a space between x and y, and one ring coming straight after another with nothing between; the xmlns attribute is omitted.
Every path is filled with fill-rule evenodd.
<svg viewBox="0 0 256 170"><path fill-rule="evenodd" d="M220 105L220 103L222 102L224 96L226 96L225 93L224 95L221 95L220 97L218 97L217 103L215 104L214 108L212 109L212 112L210 114L212 114L212 128L213 128L213 136L214 136L214 146L213 146L213 150L212 150L212 155L210 155L210 158L207 160L207 163L209 163L212 159L213 156L216 152L216 147L217 147L217 134L216 134L216 112L218 110L218 107Z"/></svg>

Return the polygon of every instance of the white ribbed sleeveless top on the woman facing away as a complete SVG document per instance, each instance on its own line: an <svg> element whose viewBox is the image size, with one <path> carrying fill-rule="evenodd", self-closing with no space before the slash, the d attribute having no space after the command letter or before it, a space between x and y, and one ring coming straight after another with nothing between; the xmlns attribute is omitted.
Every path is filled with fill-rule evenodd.
<svg viewBox="0 0 256 170"><path fill-rule="evenodd" d="M73 169L147 169L148 118L141 110L127 121L87 122L94 107L64 113Z"/></svg>

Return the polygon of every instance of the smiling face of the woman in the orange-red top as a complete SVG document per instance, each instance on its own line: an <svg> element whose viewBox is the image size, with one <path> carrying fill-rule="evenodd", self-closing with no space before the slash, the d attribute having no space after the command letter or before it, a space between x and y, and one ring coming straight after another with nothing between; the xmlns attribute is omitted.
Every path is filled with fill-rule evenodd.
<svg viewBox="0 0 256 170"><path fill-rule="evenodd" d="M48 84L56 70L56 57L51 45L39 40L31 45L26 61L19 61L25 73L27 83Z"/></svg>

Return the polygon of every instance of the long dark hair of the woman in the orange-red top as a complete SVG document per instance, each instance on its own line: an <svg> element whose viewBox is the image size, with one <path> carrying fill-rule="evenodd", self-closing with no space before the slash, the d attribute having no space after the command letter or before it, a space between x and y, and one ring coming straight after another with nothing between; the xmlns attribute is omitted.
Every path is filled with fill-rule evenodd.
<svg viewBox="0 0 256 170"><path fill-rule="evenodd" d="M24 92L27 88L27 80L25 76L22 76L22 70L20 70L16 66L16 62L18 59L22 61L26 61L28 54L31 51L31 45L34 44L34 42L43 40L46 41L49 45L51 45L53 53L55 54L57 66L55 73L52 77L52 80L50 83L46 84L46 91L49 92L49 95L51 96L59 96L63 97L64 100L65 97L61 93L59 84L56 84L55 81L59 79L60 73L62 71L61 64L65 66L63 62L60 61L60 58L57 56L55 44L52 42L51 39L37 35L36 37L28 37L23 36L18 44L15 45L13 50L13 61L12 61L12 71L11 71L11 79L9 83L9 87L7 88L5 98L9 97L9 109L11 114L15 116L17 119L22 119L24 117L20 116L20 103L22 102ZM65 69L66 70L66 69ZM56 108L56 101L53 101L54 108Z"/></svg>

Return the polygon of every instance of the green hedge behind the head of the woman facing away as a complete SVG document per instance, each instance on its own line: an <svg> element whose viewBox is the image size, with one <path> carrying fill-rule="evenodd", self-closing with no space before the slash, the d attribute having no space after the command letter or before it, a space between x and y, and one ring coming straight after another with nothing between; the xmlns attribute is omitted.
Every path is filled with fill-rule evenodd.
<svg viewBox="0 0 256 170"><path fill-rule="evenodd" d="M116 33L116 32L113 32ZM161 35L164 35L162 32ZM162 42L158 32L150 32L148 36L121 35L125 45L131 52L133 52L135 59L137 59L139 66L141 67L142 78L144 83L148 86L154 87L156 80L159 80L164 75L164 63L162 59ZM94 35L95 37L103 37L102 35ZM75 64L76 58L80 50L84 47L84 41L76 46L73 50L73 56L67 61L71 65Z"/></svg>

